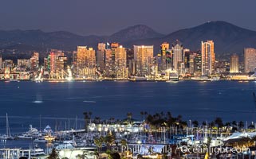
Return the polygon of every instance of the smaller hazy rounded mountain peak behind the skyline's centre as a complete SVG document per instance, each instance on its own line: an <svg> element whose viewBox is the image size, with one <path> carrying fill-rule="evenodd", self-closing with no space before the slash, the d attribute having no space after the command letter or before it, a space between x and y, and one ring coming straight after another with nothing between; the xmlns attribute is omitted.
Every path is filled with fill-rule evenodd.
<svg viewBox="0 0 256 159"><path fill-rule="evenodd" d="M110 36L110 41L133 41L139 39L148 39L155 37L163 37L163 34L157 33L147 25L133 25Z"/></svg>

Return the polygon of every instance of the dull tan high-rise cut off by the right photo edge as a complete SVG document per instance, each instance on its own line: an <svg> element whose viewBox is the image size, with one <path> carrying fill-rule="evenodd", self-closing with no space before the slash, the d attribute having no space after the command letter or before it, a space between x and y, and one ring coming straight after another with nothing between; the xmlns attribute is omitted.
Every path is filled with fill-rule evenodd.
<svg viewBox="0 0 256 159"><path fill-rule="evenodd" d="M256 49L255 48L244 48L244 71L254 72L256 69Z"/></svg>

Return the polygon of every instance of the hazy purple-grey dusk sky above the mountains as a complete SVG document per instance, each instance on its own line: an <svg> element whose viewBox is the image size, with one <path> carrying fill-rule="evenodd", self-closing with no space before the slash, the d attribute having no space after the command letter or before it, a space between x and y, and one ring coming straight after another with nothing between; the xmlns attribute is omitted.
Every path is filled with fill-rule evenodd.
<svg viewBox="0 0 256 159"><path fill-rule="evenodd" d="M206 21L256 30L255 0L1 0L0 29L109 35L144 24L171 33Z"/></svg>

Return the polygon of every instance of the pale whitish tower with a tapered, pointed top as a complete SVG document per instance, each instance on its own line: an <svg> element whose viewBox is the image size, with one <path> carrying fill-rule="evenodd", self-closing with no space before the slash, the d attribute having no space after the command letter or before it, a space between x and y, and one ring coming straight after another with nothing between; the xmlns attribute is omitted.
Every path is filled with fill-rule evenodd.
<svg viewBox="0 0 256 159"><path fill-rule="evenodd" d="M180 41L176 40L172 44L171 52L173 54L173 68L179 74L183 73L184 69L184 53L183 45Z"/></svg>

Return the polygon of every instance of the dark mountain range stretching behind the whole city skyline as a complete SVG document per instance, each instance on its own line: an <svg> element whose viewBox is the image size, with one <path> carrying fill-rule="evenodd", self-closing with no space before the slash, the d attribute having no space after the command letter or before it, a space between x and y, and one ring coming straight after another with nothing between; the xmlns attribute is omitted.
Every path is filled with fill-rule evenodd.
<svg viewBox="0 0 256 159"><path fill-rule="evenodd" d="M77 49L77 45L96 48L99 42L120 42L124 47L132 45L154 45L155 54L164 41L170 44L179 40L183 48L200 49L201 41L213 40L215 53L235 52L242 54L243 48L256 48L256 31L243 29L226 21L208 21L188 29L180 29L164 35L147 25L134 25L110 36L80 36L65 31L45 33L41 30L0 30L0 49L16 49L20 52L45 52L46 48L65 51Z"/></svg>

